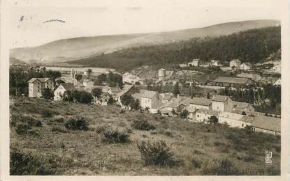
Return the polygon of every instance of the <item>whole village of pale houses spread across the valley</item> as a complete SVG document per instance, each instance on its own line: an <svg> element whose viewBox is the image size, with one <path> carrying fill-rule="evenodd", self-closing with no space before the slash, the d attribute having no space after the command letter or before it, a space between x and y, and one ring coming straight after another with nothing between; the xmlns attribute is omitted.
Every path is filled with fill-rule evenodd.
<svg viewBox="0 0 290 181"><path fill-rule="evenodd" d="M85 91L92 95L90 101L92 104L107 106L114 102L122 109L131 111L134 109L161 116L180 116L184 121L189 122L220 123L227 124L229 127L252 129L254 132L281 134L280 113L271 115L254 109L254 105L259 105L261 102L264 104L270 100L264 99L253 103L238 102L229 95L220 94L221 91L254 88L253 85L257 85L257 82L259 82L258 86L261 84L280 86L280 61L252 65L233 59L225 65L220 61L202 62L199 58L194 58L191 62L177 67L160 68L154 75L150 75L150 79L140 77L136 72L124 72L119 75L122 76L122 85L118 82L115 86L106 82L96 85L96 79L99 77L90 77L92 70L77 72L71 68L70 72L66 72L66 76L59 77L55 81L48 77L30 79L28 97L43 97L44 89L50 89L53 91L53 101L64 101L68 99L69 92ZM220 72L226 72L226 75L211 75L213 77L211 81L198 79L198 74L201 77L208 76L198 70L208 68L218 68ZM263 71L262 74L274 74L274 76L272 79L265 79L256 74L259 70ZM81 78L79 74L82 74ZM106 79L110 76L108 74L113 75L110 72L99 76ZM236 76L230 77L228 74ZM186 91L184 85L189 87L189 91ZM171 86L173 91L166 92L164 88L166 86ZM208 92L194 95L191 93L193 86L200 88L201 92L203 90Z"/></svg>

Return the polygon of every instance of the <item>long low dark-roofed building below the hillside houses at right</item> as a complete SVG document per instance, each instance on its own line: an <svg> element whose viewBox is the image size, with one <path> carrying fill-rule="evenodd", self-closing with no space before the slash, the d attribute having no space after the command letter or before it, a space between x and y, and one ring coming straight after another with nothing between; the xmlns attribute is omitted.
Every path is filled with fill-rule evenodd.
<svg viewBox="0 0 290 181"><path fill-rule="evenodd" d="M212 86L223 87L247 86L249 84L252 84L251 80L237 77L217 77L217 79L212 81Z"/></svg>

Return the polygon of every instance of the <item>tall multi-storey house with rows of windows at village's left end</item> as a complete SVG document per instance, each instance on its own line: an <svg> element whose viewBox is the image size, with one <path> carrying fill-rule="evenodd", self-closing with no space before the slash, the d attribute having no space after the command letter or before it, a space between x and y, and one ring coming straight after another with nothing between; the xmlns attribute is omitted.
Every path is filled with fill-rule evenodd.
<svg viewBox="0 0 290 181"><path fill-rule="evenodd" d="M50 78L32 78L28 81L28 88L28 97L41 97L42 91L45 88L49 88L53 91L55 89L55 85Z"/></svg>

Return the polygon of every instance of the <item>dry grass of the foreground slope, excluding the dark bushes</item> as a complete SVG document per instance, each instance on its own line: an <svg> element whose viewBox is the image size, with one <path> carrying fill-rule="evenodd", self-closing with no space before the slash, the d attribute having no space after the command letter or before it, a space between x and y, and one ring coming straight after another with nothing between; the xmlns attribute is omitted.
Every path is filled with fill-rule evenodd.
<svg viewBox="0 0 290 181"><path fill-rule="evenodd" d="M52 132L52 127L66 128L63 123L48 125L51 118L42 118L43 110L52 112L54 116L58 114L64 117L85 116L89 119L89 130ZM280 171L280 138L273 135L245 134L240 129L222 125L189 123L180 118L160 118L147 113L133 111L119 113L119 107L48 102L27 98L13 100L10 111L13 114L32 115L43 123L42 127L33 127L39 136L17 134L13 126L10 129L10 148L42 155L47 158L43 163L55 167L56 174L59 175L201 175L202 168L195 168L191 164L191 155L195 155L202 161L226 157L235 168L242 171L241 174L271 174L265 164L266 150L273 151L273 167L270 168L275 174ZM132 121L142 117L157 127L158 134L131 128ZM132 129L131 143L103 143L101 135L94 131L103 123L119 129ZM235 149L233 141L229 139L233 137L238 138L235 141L241 141L240 145L246 148ZM136 141L157 139L166 141L175 159L180 160L179 166L168 168L143 165L140 152L135 146ZM245 162L247 155L252 155L254 160ZM48 158L53 158L55 162L49 164ZM210 175L210 173L203 174Z"/></svg>

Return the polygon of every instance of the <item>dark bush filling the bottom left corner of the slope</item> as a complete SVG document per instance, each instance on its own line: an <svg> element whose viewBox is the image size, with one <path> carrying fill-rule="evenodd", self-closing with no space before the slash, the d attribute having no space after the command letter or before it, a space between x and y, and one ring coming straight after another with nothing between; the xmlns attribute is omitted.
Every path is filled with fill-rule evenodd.
<svg viewBox="0 0 290 181"><path fill-rule="evenodd" d="M10 175L53 175L55 171L45 168L40 160L31 152L13 150L10 152Z"/></svg>

